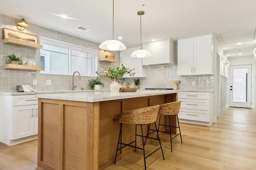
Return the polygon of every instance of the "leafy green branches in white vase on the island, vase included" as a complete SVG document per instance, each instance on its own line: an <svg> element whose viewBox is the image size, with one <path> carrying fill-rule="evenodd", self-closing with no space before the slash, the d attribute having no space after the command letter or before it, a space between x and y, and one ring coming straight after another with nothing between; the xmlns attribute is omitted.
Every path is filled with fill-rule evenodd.
<svg viewBox="0 0 256 170"><path fill-rule="evenodd" d="M120 85L118 84L120 82L120 80L122 79L122 77L125 74L129 74L130 76L134 76L135 69L130 69L127 67L124 67L124 65L122 64L121 66L117 66L116 68L110 67L108 66L108 68L106 68L103 73L101 73L101 76L108 76L108 78L112 81L112 83L110 84L110 91L111 92L119 92L119 87Z"/></svg>

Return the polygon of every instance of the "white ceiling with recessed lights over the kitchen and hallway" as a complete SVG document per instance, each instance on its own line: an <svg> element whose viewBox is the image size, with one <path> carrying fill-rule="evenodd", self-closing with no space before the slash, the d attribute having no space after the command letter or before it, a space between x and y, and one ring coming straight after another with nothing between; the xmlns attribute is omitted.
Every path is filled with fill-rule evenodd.
<svg viewBox="0 0 256 170"><path fill-rule="evenodd" d="M0 0L0 14L101 43L112 38L112 0ZM144 4L144 6L142 6ZM114 39L126 47L170 38L178 40L256 26L256 0L115 0ZM72 19L60 18L66 15ZM90 32L78 30L78 26ZM231 36L232 39L234 38ZM222 42L222 40L220 40ZM223 44L228 57L252 55L255 41ZM238 55L238 50L242 55Z"/></svg>

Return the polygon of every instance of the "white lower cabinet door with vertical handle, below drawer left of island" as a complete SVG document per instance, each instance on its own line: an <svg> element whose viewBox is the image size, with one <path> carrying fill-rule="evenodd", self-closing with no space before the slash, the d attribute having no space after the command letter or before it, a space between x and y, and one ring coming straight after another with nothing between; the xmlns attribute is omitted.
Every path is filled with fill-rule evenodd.
<svg viewBox="0 0 256 170"><path fill-rule="evenodd" d="M12 140L34 134L34 105L12 107Z"/></svg>

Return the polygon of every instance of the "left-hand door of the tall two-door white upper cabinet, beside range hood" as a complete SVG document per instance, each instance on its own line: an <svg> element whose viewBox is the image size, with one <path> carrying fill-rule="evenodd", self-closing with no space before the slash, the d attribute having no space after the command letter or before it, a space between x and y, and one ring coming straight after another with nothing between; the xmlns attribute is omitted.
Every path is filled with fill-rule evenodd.
<svg viewBox="0 0 256 170"><path fill-rule="evenodd" d="M178 75L193 75L194 39L178 40Z"/></svg>

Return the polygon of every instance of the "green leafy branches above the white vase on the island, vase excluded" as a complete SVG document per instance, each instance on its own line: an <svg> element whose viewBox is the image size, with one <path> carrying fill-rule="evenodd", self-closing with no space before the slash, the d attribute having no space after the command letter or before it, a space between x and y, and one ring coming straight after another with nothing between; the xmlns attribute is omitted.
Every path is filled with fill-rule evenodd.
<svg viewBox="0 0 256 170"><path fill-rule="evenodd" d="M100 73L100 75L108 76L108 78L110 78L111 81L118 81L118 83L119 83L125 74L134 76L135 75L134 70L135 69L130 69L130 68L124 67L123 64L121 66L117 66L116 68L108 66L108 68L106 68L103 71L103 73Z"/></svg>

